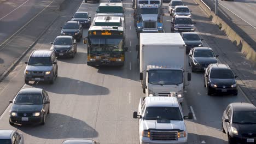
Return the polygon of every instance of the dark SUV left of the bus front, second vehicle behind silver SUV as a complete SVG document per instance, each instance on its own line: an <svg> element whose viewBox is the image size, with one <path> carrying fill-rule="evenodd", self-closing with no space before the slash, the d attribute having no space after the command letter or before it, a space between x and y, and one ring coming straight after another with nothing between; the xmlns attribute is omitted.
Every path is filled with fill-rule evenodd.
<svg viewBox="0 0 256 144"><path fill-rule="evenodd" d="M77 41L83 37L83 27L78 21L67 21L61 28L61 35L71 35Z"/></svg>

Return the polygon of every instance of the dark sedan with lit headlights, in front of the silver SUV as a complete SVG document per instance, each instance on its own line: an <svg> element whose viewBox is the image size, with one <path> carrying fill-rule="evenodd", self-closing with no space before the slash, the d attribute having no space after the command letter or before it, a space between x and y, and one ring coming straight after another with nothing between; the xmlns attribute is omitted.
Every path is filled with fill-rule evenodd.
<svg viewBox="0 0 256 144"><path fill-rule="evenodd" d="M46 115L50 113L50 99L44 89L21 89L10 103L13 103L9 113L10 125L44 124Z"/></svg>

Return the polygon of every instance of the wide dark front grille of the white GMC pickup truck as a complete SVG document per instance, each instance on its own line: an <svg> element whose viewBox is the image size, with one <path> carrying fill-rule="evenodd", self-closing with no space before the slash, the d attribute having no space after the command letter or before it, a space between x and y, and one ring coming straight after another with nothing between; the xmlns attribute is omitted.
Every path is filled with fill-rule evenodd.
<svg viewBox="0 0 256 144"><path fill-rule="evenodd" d="M177 131L150 131L150 140L174 141L177 140Z"/></svg>

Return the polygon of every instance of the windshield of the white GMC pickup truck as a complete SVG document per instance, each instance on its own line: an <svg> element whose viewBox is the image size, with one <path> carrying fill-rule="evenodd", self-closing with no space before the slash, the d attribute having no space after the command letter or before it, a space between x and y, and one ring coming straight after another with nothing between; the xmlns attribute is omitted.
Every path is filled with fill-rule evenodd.
<svg viewBox="0 0 256 144"><path fill-rule="evenodd" d="M147 107L144 119L170 119L173 121L182 121L181 111L178 107Z"/></svg>

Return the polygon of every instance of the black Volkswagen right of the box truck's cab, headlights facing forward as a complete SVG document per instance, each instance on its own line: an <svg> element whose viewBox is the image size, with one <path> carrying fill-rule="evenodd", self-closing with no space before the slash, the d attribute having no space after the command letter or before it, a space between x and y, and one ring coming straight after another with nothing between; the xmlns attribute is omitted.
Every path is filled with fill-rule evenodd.
<svg viewBox="0 0 256 144"><path fill-rule="evenodd" d="M207 94L224 92L237 95L236 77L227 64L208 65L203 79Z"/></svg>

